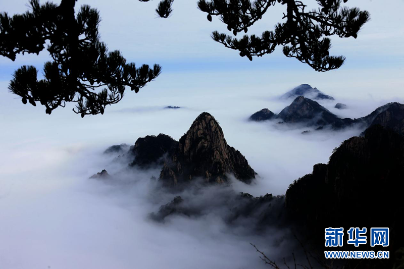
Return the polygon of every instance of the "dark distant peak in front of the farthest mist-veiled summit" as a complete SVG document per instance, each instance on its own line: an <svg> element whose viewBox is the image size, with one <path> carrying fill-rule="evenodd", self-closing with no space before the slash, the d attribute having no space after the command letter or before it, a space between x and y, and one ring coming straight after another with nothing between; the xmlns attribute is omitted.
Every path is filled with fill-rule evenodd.
<svg viewBox="0 0 404 269"><path fill-rule="evenodd" d="M353 123L351 119L340 119L324 106L304 96L296 97L277 116L285 123L303 123L307 126L331 125L342 128Z"/></svg>

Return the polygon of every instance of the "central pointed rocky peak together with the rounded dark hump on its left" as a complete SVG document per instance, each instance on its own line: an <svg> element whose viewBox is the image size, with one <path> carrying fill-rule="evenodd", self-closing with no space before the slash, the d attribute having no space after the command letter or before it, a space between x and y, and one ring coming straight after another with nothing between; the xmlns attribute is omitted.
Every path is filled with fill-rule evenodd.
<svg viewBox="0 0 404 269"><path fill-rule="evenodd" d="M206 182L223 183L227 174L250 183L255 171L245 157L229 146L219 123L209 113L200 114L179 141L160 134L139 138L130 164L140 168L162 166L160 180L166 185L204 178Z"/></svg>

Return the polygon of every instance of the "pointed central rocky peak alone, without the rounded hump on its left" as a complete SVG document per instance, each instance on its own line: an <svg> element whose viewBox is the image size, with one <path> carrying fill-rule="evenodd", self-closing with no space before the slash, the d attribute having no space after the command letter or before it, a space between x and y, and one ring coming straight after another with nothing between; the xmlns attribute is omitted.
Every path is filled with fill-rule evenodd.
<svg viewBox="0 0 404 269"><path fill-rule="evenodd" d="M166 160L160 179L170 185L194 177L223 183L227 181L227 173L246 183L256 174L244 156L227 144L215 118L204 112L180 138L178 150Z"/></svg>

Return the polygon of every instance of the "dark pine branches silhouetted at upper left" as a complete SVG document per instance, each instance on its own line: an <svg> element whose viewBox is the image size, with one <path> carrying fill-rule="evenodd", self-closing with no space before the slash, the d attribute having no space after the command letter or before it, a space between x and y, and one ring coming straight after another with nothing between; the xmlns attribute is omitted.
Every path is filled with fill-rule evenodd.
<svg viewBox="0 0 404 269"><path fill-rule="evenodd" d="M99 40L98 11L82 6L75 16L76 0L62 0L60 6L31 0L31 10L9 17L0 14L0 55L15 60L19 53L39 54L45 48L53 61L38 70L22 66L10 82L11 92L36 105L39 101L51 114L66 102L76 102L73 111L85 115L104 114L108 104L119 102L128 86L138 92L161 72L159 65L149 68L127 63L118 50L108 51Z"/></svg>

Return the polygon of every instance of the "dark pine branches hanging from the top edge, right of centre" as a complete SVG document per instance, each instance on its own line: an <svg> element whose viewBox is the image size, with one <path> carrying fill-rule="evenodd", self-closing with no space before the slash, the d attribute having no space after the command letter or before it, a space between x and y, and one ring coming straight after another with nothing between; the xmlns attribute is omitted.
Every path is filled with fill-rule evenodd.
<svg viewBox="0 0 404 269"><path fill-rule="evenodd" d="M147 2L149 0L139 0ZM342 66L345 57L330 56L331 40L327 36L357 38L361 27L369 21L369 13L358 8L341 7L341 0L317 0L318 9L307 10L307 5L297 0L199 0L199 10L212 16L219 16L234 36L247 33L248 28L262 19L275 4L284 5L285 22L278 23L272 31L261 36L243 35L237 39L217 31L212 38L225 47L238 50L241 57L262 57L272 53L279 45L283 46L286 57L296 58L316 71L324 72ZM347 0L343 0L344 3ZM158 15L167 18L172 13L173 0L163 0L156 10Z"/></svg>

